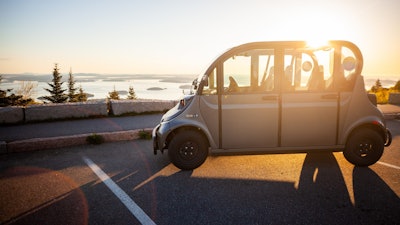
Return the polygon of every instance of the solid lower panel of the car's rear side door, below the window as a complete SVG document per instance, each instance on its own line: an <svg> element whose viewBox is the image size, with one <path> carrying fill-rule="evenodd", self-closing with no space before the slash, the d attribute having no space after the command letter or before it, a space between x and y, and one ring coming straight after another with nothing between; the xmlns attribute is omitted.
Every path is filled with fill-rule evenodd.
<svg viewBox="0 0 400 225"><path fill-rule="evenodd" d="M337 93L283 93L282 147L336 143Z"/></svg>

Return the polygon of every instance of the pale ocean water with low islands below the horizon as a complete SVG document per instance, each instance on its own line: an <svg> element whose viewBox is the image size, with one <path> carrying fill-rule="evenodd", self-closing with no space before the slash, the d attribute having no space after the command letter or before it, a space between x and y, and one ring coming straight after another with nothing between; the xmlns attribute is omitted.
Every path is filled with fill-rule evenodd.
<svg viewBox="0 0 400 225"><path fill-rule="evenodd" d="M63 88L67 89L68 75L62 75L64 82ZM90 94L91 99L104 99L113 91L114 88L120 94L121 99L126 99L129 87L134 88L135 94L140 99L159 99L159 100L177 100L184 93L190 92L192 81L197 75L103 75L103 74L73 74L75 87L80 86L85 93ZM383 87L392 87L400 80L399 75L364 75L365 89L369 90L379 79ZM52 75L33 75L33 74L10 74L3 75L0 89L21 88L22 81L30 82L35 85L34 92L31 95L36 101L41 96L48 96L49 93L44 88L50 88L47 84L51 82ZM65 93L68 93L66 91Z"/></svg>

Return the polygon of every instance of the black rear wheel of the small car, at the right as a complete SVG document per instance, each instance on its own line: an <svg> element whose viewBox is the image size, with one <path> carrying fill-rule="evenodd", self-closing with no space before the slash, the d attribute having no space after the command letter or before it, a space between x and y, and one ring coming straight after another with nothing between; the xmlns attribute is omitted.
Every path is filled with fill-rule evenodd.
<svg viewBox="0 0 400 225"><path fill-rule="evenodd" d="M383 154L384 141L381 135L371 129L354 132L347 140L344 157L356 166L376 163Z"/></svg>

